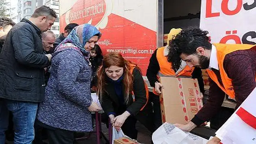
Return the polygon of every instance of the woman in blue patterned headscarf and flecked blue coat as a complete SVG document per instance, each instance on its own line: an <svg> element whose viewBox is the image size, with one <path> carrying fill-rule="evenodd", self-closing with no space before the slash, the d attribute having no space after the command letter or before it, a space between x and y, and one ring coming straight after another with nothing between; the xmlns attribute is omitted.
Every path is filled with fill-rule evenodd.
<svg viewBox="0 0 256 144"><path fill-rule="evenodd" d="M50 144L72 144L73 132L93 130L89 51L101 37L96 27L75 27L52 54L51 75L38 108L38 124L47 128Z"/></svg>

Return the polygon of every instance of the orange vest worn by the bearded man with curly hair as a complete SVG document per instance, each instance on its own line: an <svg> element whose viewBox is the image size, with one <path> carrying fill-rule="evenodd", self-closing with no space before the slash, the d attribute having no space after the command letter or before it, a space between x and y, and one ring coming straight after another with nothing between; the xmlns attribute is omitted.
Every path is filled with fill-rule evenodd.
<svg viewBox="0 0 256 144"><path fill-rule="evenodd" d="M235 92L232 85L232 79L230 79L223 67L223 61L225 59L225 56L229 53L238 51L238 50L247 50L255 45L250 44L213 44L217 49L217 60L219 65L219 72L221 74L221 80L223 83L223 86L218 82L218 78L216 74L210 70L207 69L207 73L209 74L209 77L221 88L222 91L224 91L229 97L232 99L235 98ZM256 81L256 78L255 78Z"/></svg>

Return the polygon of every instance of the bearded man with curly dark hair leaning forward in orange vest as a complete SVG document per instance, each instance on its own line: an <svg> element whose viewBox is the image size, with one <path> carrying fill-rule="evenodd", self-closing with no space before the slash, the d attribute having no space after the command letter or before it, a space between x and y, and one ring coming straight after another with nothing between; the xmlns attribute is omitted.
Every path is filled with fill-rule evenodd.
<svg viewBox="0 0 256 144"><path fill-rule="evenodd" d="M176 124L183 131L191 131L213 117L225 94L236 100L238 108L256 87L256 45L211 44L207 34L200 29L186 29L170 42L173 51L168 60L183 60L190 67L207 69L210 77L209 100L189 123Z"/></svg>

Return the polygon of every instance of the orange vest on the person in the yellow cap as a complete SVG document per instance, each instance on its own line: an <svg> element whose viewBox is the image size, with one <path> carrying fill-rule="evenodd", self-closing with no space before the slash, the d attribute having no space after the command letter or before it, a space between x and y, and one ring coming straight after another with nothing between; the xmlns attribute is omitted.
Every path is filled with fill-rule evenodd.
<svg viewBox="0 0 256 144"><path fill-rule="evenodd" d="M160 67L160 70L158 72L157 78L159 79L162 76L173 76L173 77L179 77L179 76L185 76L185 77L192 77L192 72L194 68L191 68L189 66L186 66L178 75L175 74L175 71L171 68L171 62L168 62L167 57L164 56L164 50L165 47L161 47L157 49L157 61ZM155 92L155 88L153 89L153 93L155 95L159 95L157 92Z"/></svg>

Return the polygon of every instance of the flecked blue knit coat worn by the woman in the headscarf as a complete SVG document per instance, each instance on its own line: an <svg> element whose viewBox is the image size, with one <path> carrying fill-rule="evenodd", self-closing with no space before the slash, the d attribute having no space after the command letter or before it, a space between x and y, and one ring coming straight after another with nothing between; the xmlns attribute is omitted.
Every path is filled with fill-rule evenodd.
<svg viewBox="0 0 256 144"><path fill-rule="evenodd" d="M50 72L38 120L54 128L92 131L89 62L79 50L67 48L54 53Z"/></svg>

